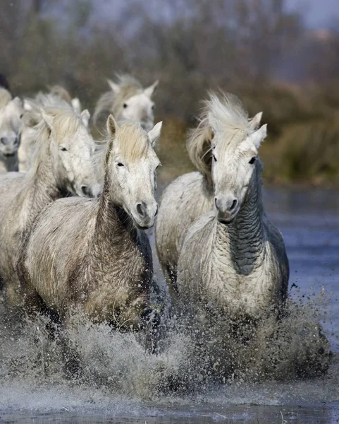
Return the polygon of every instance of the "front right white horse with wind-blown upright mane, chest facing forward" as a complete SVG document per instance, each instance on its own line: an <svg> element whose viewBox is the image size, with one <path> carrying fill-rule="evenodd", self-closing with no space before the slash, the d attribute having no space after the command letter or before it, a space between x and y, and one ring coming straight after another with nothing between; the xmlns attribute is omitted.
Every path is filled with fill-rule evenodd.
<svg viewBox="0 0 339 424"><path fill-rule="evenodd" d="M212 95L208 110L214 209L187 232L176 299L204 312L259 317L284 302L289 276L283 237L261 199L258 149L266 125L253 131L234 95Z"/></svg>

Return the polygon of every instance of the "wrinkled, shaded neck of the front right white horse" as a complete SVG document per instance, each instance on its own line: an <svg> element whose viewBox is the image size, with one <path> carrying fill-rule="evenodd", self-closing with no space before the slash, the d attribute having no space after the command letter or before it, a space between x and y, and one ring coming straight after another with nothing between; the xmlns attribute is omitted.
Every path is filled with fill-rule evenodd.
<svg viewBox="0 0 339 424"><path fill-rule="evenodd" d="M233 265L242 274L250 273L259 259L264 260L260 167L256 165L245 201L234 220L228 225L217 223L218 237L227 237Z"/></svg>

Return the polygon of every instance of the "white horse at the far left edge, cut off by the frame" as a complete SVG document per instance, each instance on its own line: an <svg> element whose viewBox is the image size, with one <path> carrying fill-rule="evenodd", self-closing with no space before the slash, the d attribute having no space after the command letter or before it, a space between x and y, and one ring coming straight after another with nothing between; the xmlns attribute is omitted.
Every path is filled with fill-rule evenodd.
<svg viewBox="0 0 339 424"><path fill-rule="evenodd" d="M18 170L23 102L0 87L0 172Z"/></svg>

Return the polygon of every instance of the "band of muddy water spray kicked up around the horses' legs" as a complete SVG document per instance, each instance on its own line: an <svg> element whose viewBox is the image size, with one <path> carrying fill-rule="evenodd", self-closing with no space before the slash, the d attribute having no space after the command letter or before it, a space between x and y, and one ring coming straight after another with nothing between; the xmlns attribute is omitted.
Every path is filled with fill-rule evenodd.
<svg viewBox="0 0 339 424"><path fill-rule="evenodd" d="M206 394L216 384L289 382L326 374L333 360L319 317L327 302L322 292L304 302L290 300L284 317L274 314L257 325L211 317L163 320L159 354L144 349L142 334L123 334L106 324L73 316L70 329L51 338L46 317L23 317L1 305L1 384L30 382L99 390L130 399ZM63 341L67 338L65 353ZM69 352L80 363L69 379Z"/></svg>

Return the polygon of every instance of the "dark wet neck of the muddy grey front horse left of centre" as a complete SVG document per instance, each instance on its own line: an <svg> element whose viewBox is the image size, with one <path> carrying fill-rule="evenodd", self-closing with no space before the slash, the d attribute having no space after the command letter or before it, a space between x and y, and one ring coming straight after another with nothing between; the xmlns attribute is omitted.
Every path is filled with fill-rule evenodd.
<svg viewBox="0 0 339 424"><path fill-rule="evenodd" d="M94 245L103 252L121 252L122 245L136 240L135 229L130 216L111 199L109 179L106 176L99 202ZM120 246L116 249L116 246Z"/></svg>

